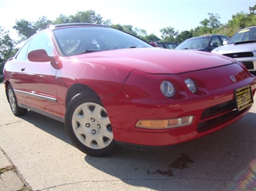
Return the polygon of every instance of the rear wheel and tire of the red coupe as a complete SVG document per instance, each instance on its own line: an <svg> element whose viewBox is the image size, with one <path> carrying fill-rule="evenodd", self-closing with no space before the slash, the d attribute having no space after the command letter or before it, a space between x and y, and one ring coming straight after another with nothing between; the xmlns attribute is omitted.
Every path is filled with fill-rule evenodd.
<svg viewBox="0 0 256 191"><path fill-rule="evenodd" d="M14 93L14 90L13 90L11 84L8 85L7 93L8 93L9 104L10 104L10 107L12 109L12 113L14 113L14 116L22 116L25 113L27 113L27 109L26 108L20 108L18 106L17 98L16 98L16 95Z"/></svg>

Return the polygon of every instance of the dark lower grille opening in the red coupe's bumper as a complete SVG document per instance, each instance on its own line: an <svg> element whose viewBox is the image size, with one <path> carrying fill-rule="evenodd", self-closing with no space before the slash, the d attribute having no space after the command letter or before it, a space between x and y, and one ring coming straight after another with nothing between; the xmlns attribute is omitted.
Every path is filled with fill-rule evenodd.
<svg viewBox="0 0 256 191"><path fill-rule="evenodd" d="M239 116L243 111L237 111L236 101L228 101L203 111L198 124L198 132L206 131L223 124L225 121Z"/></svg>

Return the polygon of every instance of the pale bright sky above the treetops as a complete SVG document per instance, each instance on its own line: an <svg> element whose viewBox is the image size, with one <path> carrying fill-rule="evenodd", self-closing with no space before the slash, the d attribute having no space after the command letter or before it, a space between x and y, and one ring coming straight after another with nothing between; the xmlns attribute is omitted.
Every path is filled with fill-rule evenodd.
<svg viewBox="0 0 256 191"><path fill-rule="evenodd" d="M256 0L0 0L0 26L14 37L16 20L55 20L60 14L92 10L112 24L132 25L161 37L159 30L166 27L178 32L195 29L208 13L219 14L225 24L234 14L249 13L255 4Z"/></svg>

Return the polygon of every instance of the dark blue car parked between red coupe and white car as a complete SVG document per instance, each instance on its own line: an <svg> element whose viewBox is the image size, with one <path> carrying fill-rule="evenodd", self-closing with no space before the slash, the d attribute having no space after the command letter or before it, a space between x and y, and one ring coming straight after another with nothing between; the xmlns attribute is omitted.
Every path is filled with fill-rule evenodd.
<svg viewBox="0 0 256 191"><path fill-rule="evenodd" d="M224 35L206 35L200 37L193 37L186 39L180 43L175 50L200 50L205 52L211 52L216 47L223 45L224 41L228 41L229 37Z"/></svg>

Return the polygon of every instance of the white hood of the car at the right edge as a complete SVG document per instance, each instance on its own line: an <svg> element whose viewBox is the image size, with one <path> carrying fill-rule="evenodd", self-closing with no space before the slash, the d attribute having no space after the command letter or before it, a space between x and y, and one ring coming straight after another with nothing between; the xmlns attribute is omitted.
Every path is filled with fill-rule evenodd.
<svg viewBox="0 0 256 191"><path fill-rule="evenodd" d="M256 42L253 43L244 43L239 45L229 44L221 47L217 47L212 52L224 55L229 53L237 53L237 52L254 52L256 51Z"/></svg>

